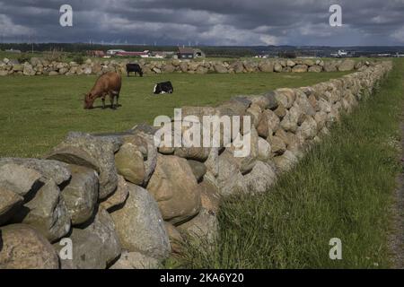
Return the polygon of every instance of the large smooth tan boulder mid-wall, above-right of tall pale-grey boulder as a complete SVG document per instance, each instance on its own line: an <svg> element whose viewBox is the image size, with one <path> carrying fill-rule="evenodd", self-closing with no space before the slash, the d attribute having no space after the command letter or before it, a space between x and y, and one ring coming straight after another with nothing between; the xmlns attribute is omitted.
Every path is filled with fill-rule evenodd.
<svg viewBox="0 0 404 287"><path fill-rule="evenodd" d="M162 218L172 224L185 222L199 212L200 190L185 159L158 155L147 190L159 204Z"/></svg>

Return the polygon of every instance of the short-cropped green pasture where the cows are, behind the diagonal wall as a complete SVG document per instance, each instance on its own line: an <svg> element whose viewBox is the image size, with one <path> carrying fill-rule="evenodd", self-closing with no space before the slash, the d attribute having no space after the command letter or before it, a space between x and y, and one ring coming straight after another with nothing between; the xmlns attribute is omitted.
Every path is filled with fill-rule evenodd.
<svg viewBox="0 0 404 287"><path fill-rule="evenodd" d="M234 95L319 83L344 73L160 74L124 77L121 108L83 109L95 76L0 77L0 157L38 157L69 131L124 131L186 105L215 105ZM155 96L154 83L171 80L172 95ZM107 101L108 102L108 101ZM101 106L101 100L95 102Z"/></svg>

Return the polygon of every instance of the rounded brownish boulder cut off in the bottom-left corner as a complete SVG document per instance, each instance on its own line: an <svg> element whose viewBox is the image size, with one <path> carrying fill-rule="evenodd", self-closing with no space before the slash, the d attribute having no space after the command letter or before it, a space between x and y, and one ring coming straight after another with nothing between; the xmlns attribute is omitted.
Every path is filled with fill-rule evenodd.
<svg viewBox="0 0 404 287"><path fill-rule="evenodd" d="M58 269L57 253L28 225L0 228L0 269Z"/></svg>

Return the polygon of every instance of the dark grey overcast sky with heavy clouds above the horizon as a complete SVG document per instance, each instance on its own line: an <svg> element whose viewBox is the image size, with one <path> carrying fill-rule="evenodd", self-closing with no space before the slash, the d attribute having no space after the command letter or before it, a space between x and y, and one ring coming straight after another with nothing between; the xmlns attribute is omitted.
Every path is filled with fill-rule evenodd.
<svg viewBox="0 0 404 287"><path fill-rule="evenodd" d="M73 27L59 8L73 7ZM342 7L330 27L329 6ZM2 41L404 45L404 0L0 0Z"/></svg>

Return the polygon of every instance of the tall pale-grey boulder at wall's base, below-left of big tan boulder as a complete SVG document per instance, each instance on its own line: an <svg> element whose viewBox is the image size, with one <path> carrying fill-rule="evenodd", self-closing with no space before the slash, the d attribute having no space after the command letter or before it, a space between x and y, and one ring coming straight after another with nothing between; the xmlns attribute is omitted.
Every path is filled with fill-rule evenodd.
<svg viewBox="0 0 404 287"><path fill-rule="evenodd" d="M122 248L156 259L168 257L170 242L158 205L147 190L128 185L125 205L111 213Z"/></svg>

